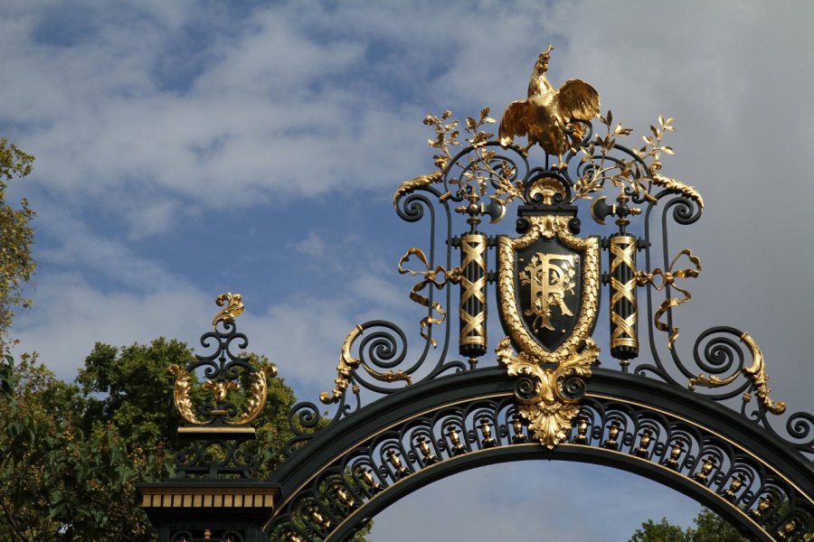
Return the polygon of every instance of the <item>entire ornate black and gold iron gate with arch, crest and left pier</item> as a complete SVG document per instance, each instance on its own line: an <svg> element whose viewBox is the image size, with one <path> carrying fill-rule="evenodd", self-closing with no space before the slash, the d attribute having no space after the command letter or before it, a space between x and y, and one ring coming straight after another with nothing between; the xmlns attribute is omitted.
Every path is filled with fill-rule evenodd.
<svg viewBox="0 0 814 542"><path fill-rule="evenodd" d="M335 387L319 397L336 415L324 420L313 403L295 406L288 459L266 481L251 478L252 458L239 447L253 435L269 371L230 350L247 346L234 322L241 300L219 298L228 306L202 340L216 351L173 369L176 405L189 422L179 434L194 453L178 458L178 479L140 487L162 540L344 540L432 481L533 458L647 476L755 540L814 531L814 416L786 415L781 430L771 424L786 406L771 397L749 333L711 328L689 362L679 356L678 307L701 265L689 249L674 256L668 224L692 224L704 201L660 173L671 119L651 126L644 146L621 145L629 128L610 112L599 117L590 85L551 86L550 51L535 65L528 98L506 107L497 140L486 131L496 122L487 109L463 125L450 111L424 120L435 130L438 171L403 182L393 197L403 220L430 226L427 245L399 262L418 278L410 298L426 311L421 350L408 355L406 334L391 322L356 326ZM529 145L514 145L516 135ZM543 164L529 160L535 144ZM481 231L508 207L516 207L516 235ZM588 212L595 234L582 236ZM457 317L448 314L453 303ZM490 343L496 308L506 336ZM593 339L605 313L610 356ZM480 367L489 344L498 366ZM196 413L192 375L202 368L213 395ZM240 378L251 390L242 412L230 398ZM221 452L208 455L212 447Z"/></svg>

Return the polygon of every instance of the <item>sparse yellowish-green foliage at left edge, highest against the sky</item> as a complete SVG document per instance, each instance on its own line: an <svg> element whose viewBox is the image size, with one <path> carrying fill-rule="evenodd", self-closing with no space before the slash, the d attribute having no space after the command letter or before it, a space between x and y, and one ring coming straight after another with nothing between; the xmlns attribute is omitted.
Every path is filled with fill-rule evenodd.
<svg viewBox="0 0 814 542"><path fill-rule="evenodd" d="M36 264L31 254L34 212L28 200L20 201L19 208L8 204L5 196L7 183L32 172L34 157L0 137L0 350L7 350L8 328L14 316L14 307L26 307L23 287L31 280Z"/></svg>

